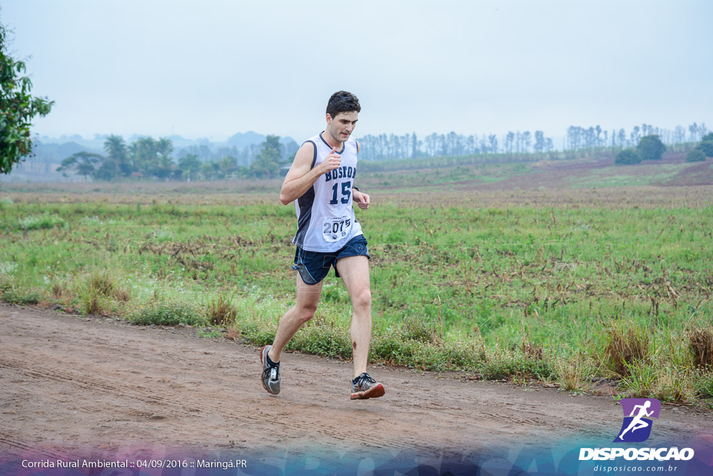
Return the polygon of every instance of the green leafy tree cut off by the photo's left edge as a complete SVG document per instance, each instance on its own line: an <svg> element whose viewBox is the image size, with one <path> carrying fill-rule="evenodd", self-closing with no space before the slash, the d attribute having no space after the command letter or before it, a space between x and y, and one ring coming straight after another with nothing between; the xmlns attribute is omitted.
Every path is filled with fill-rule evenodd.
<svg viewBox="0 0 713 476"><path fill-rule="evenodd" d="M10 173L31 155L30 126L35 116L46 116L54 101L31 95L32 82L23 76L26 66L6 49L7 31L0 24L0 173Z"/></svg>

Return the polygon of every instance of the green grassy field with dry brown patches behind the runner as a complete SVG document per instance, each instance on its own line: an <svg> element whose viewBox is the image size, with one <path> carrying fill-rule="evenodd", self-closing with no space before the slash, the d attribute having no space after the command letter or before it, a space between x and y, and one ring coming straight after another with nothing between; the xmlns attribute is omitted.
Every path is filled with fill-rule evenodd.
<svg viewBox="0 0 713 476"><path fill-rule="evenodd" d="M364 182L376 189L378 174ZM463 173L441 177L440 189L374 193L357 210L372 360L713 396L713 187L448 191ZM5 186L2 300L271 342L294 296L294 207L277 203L279 181L210 186ZM332 274L291 348L349 358L350 316Z"/></svg>

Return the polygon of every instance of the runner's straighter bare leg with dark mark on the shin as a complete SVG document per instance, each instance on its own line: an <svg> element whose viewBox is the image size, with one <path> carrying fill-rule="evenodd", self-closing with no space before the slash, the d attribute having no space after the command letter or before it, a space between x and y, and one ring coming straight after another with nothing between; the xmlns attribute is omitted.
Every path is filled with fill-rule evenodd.
<svg viewBox="0 0 713 476"><path fill-rule="evenodd" d="M352 298L352 350L354 378L366 372L366 360L371 343L371 285L369 259L366 256L347 256L337 260L339 276Z"/></svg>

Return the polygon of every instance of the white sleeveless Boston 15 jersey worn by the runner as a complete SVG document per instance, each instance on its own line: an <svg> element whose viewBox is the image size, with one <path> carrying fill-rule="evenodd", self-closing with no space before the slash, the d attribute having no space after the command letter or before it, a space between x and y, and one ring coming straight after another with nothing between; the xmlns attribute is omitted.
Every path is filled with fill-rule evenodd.
<svg viewBox="0 0 713 476"><path fill-rule="evenodd" d="M314 145L312 168L327 158L332 147L317 134L304 143ZM304 144L303 144L304 145ZM303 196L294 201L297 209L297 234L292 243L307 251L329 253L344 248L347 241L361 235L361 225L354 218L352 185L356 176L356 140L342 143L339 168L317 178Z"/></svg>

